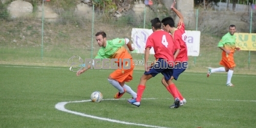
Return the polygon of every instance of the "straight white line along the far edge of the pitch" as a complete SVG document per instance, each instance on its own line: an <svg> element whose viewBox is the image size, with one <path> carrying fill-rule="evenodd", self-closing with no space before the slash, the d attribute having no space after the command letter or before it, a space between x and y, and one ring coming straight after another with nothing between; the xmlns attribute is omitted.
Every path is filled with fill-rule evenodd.
<svg viewBox="0 0 256 128"><path fill-rule="evenodd" d="M0 67L14 67L14 68L35 68L35 69L62 69L62 70L69 70L69 68L49 68L49 67L26 67L26 66L0 66ZM70 70L69 70L70 71ZM98 70L98 71L105 71L105 72L113 72L111 70ZM143 71L138 72L134 71L135 73L144 73ZM182 73L184 75L205 75L205 74L197 74L197 73ZM221 74L211 74L211 76L227 76L227 75L221 75ZM256 77L255 75L233 75L237 77Z"/></svg>

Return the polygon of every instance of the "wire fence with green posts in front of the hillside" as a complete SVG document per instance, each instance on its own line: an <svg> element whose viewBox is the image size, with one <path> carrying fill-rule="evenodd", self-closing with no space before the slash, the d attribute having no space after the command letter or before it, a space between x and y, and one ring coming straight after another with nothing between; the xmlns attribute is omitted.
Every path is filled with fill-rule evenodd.
<svg viewBox="0 0 256 128"><path fill-rule="evenodd" d="M107 39L129 38L132 28L151 29L150 20L166 16L175 17L170 11L160 13L151 8L141 7L140 13L127 11L125 14L108 17L105 12L90 7L86 13L76 10L61 13L30 13L12 17L8 11L0 13L0 63L7 65L63 66L71 56L94 58L99 50L95 40L98 31L105 31ZM191 10L185 15L187 30L201 31L200 55L189 56L189 69L203 72L206 67L220 67L221 50L218 42L231 24L239 33L256 32L256 12ZM16 9L16 14L23 14ZM56 15L56 17L55 17ZM176 24L177 25L177 24ZM255 47L256 41L254 39ZM134 59L143 59L143 54L131 53ZM235 53L240 73L256 71L256 52ZM154 55L150 56L154 60ZM138 67L140 69L141 67ZM143 69L143 67L142 67Z"/></svg>

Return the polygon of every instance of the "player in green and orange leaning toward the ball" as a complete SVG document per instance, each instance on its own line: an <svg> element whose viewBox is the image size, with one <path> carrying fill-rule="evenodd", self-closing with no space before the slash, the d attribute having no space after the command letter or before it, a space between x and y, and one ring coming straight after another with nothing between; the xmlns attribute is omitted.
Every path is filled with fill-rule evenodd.
<svg viewBox="0 0 256 128"><path fill-rule="evenodd" d="M97 32L95 36L99 47L101 47L95 58L117 59L115 62L118 64L119 68L111 73L108 77L108 81L118 90L118 93L114 95L114 98L119 99L125 92L131 94L133 98L136 98L137 94L125 84L125 82L129 82L133 79L133 58L131 54L126 50L126 48L123 47L123 45L126 44L129 50L133 51L134 48L132 48L130 40L127 38L115 38L113 40L106 40L106 33L103 31ZM127 61L123 61L123 59L130 60L130 64L132 64L130 69L123 68L128 63ZM119 65L120 63L121 65ZM94 62L92 65L94 66ZM91 66L88 65L87 69L84 68L77 72L77 76L90 68Z"/></svg>

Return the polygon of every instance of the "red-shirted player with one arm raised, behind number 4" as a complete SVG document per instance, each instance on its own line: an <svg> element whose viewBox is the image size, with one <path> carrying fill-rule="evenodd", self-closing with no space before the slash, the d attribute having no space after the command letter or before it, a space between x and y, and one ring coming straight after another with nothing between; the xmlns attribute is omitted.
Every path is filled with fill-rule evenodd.
<svg viewBox="0 0 256 128"><path fill-rule="evenodd" d="M166 32L169 32L172 34L175 42L177 43L178 46L180 46L180 51L177 56L175 56L175 68L173 72L171 80L175 79L177 80L179 75L184 72L188 66L188 57L187 57L187 46L186 46L186 38L187 35L185 33L185 25L184 25L184 18L183 15L174 7L175 6L174 2L172 6L170 7L174 12L179 16L179 23L178 27L175 28L175 23L174 19L172 17L166 17L162 19L163 23L163 30ZM168 90L169 93L172 94L172 89L176 88L169 88L168 84L165 82L164 77L162 78L162 83L165 86L165 88ZM186 99L181 95L180 91L176 88L177 93L180 97L180 105L183 105L186 103ZM175 95L172 94L175 98ZM175 103L170 105L170 108L175 108Z"/></svg>

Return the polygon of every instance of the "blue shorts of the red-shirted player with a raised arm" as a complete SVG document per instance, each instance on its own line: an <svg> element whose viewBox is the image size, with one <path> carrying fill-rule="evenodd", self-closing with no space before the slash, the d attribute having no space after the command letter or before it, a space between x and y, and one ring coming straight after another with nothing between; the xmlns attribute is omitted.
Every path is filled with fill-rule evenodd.
<svg viewBox="0 0 256 128"><path fill-rule="evenodd" d="M176 63L174 68L174 73L173 73L173 77L175 80L177 80L179 75L187 69L187 66L188 66L188 62Z"/></svg>

